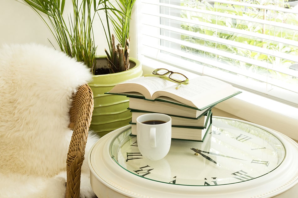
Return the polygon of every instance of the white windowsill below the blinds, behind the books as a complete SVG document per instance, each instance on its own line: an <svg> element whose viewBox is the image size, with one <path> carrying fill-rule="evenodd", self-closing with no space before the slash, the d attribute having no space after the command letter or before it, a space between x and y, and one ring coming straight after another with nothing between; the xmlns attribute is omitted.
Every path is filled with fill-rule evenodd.
<svg viewBox="0 0 298 198"><path fill-rule="evenodd" d="M151 65L157 65L152 61L143 63L143 73L151 73L156 68L166 67L163 63L158 63L154 68ZM174 68L177 71L177 68ZM183 71L185 75L195 75ZM289 105L268 99L257 94L247 91L242 91L241 94L223 101L216 105L215 115L229 116L233 115L239 119L247 120L265 127L279 131L294 140L298 140L298 109ZM226 113L226 114L225 114Z"/></svg>

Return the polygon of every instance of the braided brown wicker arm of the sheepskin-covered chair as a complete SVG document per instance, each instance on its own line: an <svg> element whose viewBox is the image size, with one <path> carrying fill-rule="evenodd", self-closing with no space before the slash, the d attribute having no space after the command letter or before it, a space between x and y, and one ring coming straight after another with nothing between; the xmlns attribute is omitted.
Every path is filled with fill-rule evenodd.
<svg viewBox="0 0 298 198"><path fill-rule="evenodd" d="M79 198L81 167L85 155L88 130L93 111L93 93L88 84L77 89L72 97L69 128L73 129L67 153L66 198Z"/></svg>

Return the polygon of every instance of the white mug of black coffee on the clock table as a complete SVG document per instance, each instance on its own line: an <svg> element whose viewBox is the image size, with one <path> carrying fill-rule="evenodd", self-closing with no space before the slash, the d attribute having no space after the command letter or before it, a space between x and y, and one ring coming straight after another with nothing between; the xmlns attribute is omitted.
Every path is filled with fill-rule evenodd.
<svg viewBox="0 0 298 198"><path fill-rule="evenodd" d="M144 114L136 119L137 142L142 156L161 160L171 147L172 119L166 114Z"/></svg>

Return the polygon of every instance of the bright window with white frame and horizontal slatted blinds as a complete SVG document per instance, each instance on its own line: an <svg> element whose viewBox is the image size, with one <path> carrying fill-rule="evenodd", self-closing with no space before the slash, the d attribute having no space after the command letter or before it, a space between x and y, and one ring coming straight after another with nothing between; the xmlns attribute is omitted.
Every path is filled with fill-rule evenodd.
<svg viewBox="0 0 298 198"><path fill-rule="evenodd" d="M142 62L168 63L298 107L298 6L280 0L137 2Z"/></svg>

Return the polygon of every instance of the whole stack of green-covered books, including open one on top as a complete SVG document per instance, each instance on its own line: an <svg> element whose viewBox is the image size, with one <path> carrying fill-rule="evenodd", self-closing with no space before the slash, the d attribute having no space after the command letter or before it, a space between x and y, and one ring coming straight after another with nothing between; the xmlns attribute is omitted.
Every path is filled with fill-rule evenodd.
<svg viewBox="0 0 298 198"><path fill-rule="evenodd" d="M136 118L147 113L168 114L172 118L172 138L203 141L212 124L211 109L241 92L211 77L190 79L188 85L159 77L140 77L117 84L107 94L129 97L132 135L137 135Z"/></svg>

